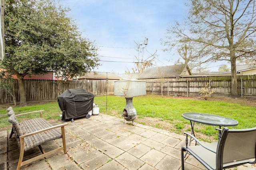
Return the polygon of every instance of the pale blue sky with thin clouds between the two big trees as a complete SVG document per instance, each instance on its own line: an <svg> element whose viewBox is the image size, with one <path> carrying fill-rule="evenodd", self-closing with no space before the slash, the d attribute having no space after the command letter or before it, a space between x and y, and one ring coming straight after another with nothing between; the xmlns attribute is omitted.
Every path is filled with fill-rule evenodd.
<svg viewBox="0 0 256 170"><path fill-rule="evenodd" d="M102 60L96 71L124 73L134 67L136 43L148 38L146 49L157 50L154 66L173 65L178 55L163 52L161 38L175 20L186 17L186 0L60 0L69 7L83 37L95 41ZM114 48L113 48L114 47ZM102 57L103 56L103 57ZM144 52L144 59L148 53ZM215 68L218 70L218 67Z"/></svg>

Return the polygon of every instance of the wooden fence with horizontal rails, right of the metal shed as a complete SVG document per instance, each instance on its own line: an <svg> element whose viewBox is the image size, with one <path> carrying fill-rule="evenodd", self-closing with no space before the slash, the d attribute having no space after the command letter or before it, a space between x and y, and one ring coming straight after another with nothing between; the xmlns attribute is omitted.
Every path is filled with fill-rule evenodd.
<svg viewBox="0 0 256 170"><path fill-rule="evenodd" d="M256 76L237 76L238 94L242 97L256 97ZM147 94L171 96L199 96L199 91L209 83L211 96L229 96L231 76L156 78L146 80Z"/></svg>

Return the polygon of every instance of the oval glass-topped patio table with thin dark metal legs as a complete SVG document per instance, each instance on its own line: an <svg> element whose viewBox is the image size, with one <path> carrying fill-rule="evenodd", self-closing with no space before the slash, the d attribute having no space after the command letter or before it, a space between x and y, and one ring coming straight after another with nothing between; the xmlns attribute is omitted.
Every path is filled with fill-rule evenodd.
<svg viewBox="0 0 256 170"><path fill-rule="evenodd" d="M202 123L206 125L214 125L214 126L219 126L221 128L222 126L236 126L238 125L238 121L224 117L224 116L219 116L219 115L212 115L208 113L196 113L196 112L188 112L188 113L183 113L182 117L185 119L188 119L191 124L191 134L195 136L194 133L194 125L195 122L197 123ZM219 130L218 132L218 139L220 138L221 131ZM191 143L191 138L190 138L190 143ZM190 145L189 143L189 145Z"/></svg>

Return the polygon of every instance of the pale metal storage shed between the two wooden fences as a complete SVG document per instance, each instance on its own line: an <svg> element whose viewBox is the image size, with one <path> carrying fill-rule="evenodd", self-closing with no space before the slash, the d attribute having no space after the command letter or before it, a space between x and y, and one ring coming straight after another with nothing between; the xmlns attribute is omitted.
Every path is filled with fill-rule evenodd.
<svg viewBox="0 0 256 170"><path fill-rule="evenodd" d="M126 79L117 80L114 82L114 95L116 96L146 95L146 81L126 80Z"/></svg>

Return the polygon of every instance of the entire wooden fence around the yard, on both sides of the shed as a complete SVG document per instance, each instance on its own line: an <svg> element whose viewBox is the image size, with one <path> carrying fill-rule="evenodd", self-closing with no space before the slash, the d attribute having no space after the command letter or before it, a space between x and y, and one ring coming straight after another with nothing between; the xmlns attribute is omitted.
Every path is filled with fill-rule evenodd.
<svg viewBox="0 0 256 170"><path fill-rule="evenodd" d="M256 75L237 76L238 94L243 98L256 98ZM114 94L114 81L102 80L24 80L27 101L57 100L66 89L84 88L92 94ZM170 96L199 96L198 92L209 82L214 93L211 96L229 96L231 76L184 77L184 78L156 78L147 79L147 94L162 94ZM18 80L14 83L16 102L20 100ZM13 103L13 98L4 89L0 90L0 104Z"/></svg>

